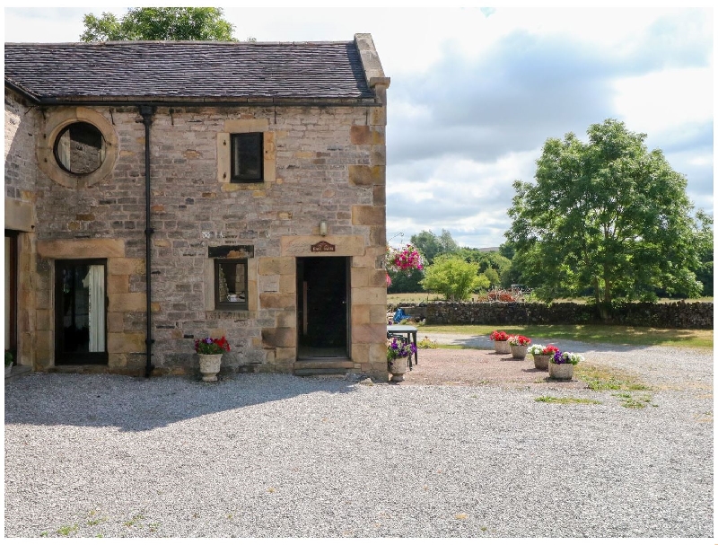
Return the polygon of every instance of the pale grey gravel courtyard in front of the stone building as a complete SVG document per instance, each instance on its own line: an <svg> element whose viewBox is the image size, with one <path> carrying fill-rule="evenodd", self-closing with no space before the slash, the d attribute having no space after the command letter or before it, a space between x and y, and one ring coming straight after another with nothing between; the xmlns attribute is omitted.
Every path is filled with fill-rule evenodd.
<svg viewBox="0 0 718 545"><path fill-rule="evenodd" d="M631 352L656 384L695 356ZM697 354L699 387L644 409L551 384L29 374L4 391L5 536L708 539L713 358Z"/></svg>

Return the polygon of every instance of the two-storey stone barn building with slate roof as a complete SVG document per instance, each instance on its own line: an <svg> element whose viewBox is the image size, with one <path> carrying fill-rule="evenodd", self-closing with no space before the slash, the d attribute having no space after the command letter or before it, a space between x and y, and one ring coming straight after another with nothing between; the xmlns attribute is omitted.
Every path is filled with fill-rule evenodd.
<svg viewBox="0 0 718 545"><path fill-rule="evenodd" d="M6 43L5 348L387 379L386 90L347 42Z"/></svg>

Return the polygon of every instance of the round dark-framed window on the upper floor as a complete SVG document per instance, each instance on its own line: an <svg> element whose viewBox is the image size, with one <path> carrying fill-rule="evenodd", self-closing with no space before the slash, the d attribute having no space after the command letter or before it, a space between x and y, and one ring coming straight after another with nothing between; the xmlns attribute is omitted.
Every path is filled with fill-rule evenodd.
<svg viewBox="0 0 718 545"><path fill-rule="evenodd" d="M89 174L99 169L105 160L105 139L99 128L77 121L57 136L54 153L57 164L66 171Z"/></svg>

